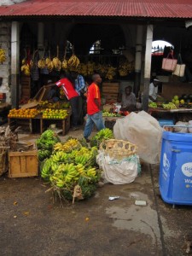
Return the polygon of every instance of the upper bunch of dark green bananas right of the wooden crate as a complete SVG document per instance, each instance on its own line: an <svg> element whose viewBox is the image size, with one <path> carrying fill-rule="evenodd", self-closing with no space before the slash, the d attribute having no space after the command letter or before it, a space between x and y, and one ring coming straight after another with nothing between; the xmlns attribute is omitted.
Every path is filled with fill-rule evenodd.
<svg viewBox="0 0 192 256"><path fill-rule="evenodd" d="M38 138L36 145L38 149L48 149L50 152L52 152L55 143L58 142L60 142L60 139L55 135L55 132L52 130L46 130Z"/></svg>

